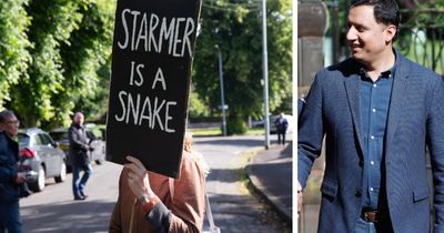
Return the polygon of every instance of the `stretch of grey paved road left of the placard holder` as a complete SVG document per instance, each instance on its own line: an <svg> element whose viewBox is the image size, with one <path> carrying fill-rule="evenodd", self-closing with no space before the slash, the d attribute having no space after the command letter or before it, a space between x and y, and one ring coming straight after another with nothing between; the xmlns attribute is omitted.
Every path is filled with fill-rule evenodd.
<svg viewBox="0 0 444 233"><path fill-rule="evenodd" d="M105 162L93 166L87 185L87 201L73 201L71 179L56 184L51 180L40 193L20 201L24 231L52 233L108 232L110 215L118 197L122 165Z"/></svg>

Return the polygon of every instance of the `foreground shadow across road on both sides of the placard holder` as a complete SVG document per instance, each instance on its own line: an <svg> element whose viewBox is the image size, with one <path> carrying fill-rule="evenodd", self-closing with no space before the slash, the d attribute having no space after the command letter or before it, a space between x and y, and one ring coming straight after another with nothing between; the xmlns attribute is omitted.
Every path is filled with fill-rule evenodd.
<svg viewBox="0 0 444 233"><path fill-rule="evenodd" d="M222 232L270 232L270 224L275 227L272 232L290 232L284 224L275 225L276 216L271 210L252 203L245 195L209 194L214 221ZM114 202L61 202L22 207L21 213L24 231L29 233L101 233L108 232L113 206Z"/></svg>

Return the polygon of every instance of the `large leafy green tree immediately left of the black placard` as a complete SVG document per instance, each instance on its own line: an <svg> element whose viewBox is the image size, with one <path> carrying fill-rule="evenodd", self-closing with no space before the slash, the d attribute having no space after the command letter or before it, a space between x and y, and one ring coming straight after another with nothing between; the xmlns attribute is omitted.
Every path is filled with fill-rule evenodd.
<svg viewBox="0 0 444 233"><path fill-rule="evenodd" d="M26 126L65 124L79 99L93 97L100 81L97 71L110 59L113 3L31 0L26 6L22 13L32 19L22 23L31 44L22 45L29 65L18 81L9 82L14 91L7 99Z"/></svg>

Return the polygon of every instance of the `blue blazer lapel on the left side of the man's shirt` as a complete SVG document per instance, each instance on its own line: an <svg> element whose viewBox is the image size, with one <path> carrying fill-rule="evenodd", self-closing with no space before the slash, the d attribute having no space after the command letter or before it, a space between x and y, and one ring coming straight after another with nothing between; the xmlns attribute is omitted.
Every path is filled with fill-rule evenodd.
<svg viewBox="0 0 444 233"><path fill-rule="evenodd" d="M346 95L349 99L349 108L352 113L354 132L357 138L361 152L363 152L362 134L361 134L362 123L361 123L361 110L360 110L360 75L352 74L351 77L345 79L344 84L345 84Z"/></svg>

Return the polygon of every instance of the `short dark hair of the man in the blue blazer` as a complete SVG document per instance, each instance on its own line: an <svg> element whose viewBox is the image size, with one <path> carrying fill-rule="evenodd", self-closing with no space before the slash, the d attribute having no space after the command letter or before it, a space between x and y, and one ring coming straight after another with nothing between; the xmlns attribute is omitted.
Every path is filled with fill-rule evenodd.
<svg viewBox="0 0 444 233"><path fill-rule="evenodd" d="M401 20L400 8L395 0L352 0L350 9L357 6L372 6L376 22L382 22L386 26L395 26L396 34L393 38L393 41L395 41L397 32L400 30Z"/></svg>

